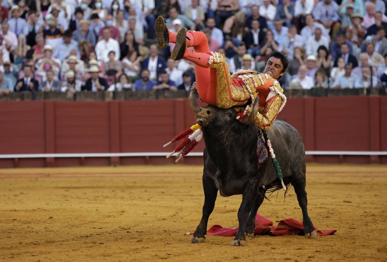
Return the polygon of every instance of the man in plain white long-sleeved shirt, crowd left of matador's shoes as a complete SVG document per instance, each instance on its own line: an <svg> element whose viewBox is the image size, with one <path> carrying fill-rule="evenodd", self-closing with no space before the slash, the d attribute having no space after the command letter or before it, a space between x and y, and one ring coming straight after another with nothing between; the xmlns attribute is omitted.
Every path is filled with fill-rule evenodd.
<svg viewBox="0 0 387 262"><path fill-rule="evenodd" d="M103 39L98 41L95 47L97 60L108 62L110 51L114 51L116 60L120 59L120 44L117 40L111 38L110 35L110 28L104 28L102 33Z"/></svg>

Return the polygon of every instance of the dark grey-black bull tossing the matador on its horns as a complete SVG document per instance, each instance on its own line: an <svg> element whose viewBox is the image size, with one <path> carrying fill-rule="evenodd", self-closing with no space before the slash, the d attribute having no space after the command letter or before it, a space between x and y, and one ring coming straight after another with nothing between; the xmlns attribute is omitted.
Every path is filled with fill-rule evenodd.
<svg viewBox="0 0 387 262"><path fill-rule="evenodd" d="M242 195L238 210L239 229L233 245L246 245L246 235L254 237L255 215L265 193L281 188L271 157L269 155L267 164L258 164L257 142L262 141L259 141L259 130L252 123L252 117L247 121L238 121L235 109L219 109L212 105L199 107L195 91L191 91L190 106L197 113L196 120L202 127L205 141L203 214L190 241L201 243L205 240L208 218L214 210L219 190L221 196ZM257 110L258 103L255 103L251 115L257 115ZM274 121L267 133L281 166L284 183L291 183L296 192L305 235L316 238L307 211L305 148L302 138L290 124L279 120Z"/></svg>

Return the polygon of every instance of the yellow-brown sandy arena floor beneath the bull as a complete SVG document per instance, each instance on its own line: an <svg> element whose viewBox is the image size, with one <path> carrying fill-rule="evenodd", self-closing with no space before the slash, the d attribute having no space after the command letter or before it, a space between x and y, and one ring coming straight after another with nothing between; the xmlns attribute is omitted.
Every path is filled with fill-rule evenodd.
<svg viewBox="0 0 387 262"><path fill-rule="evenodd" d="M257 236L245 247L207 236L191 244L200 221L201 166L0 170L2 261L385 261L387 166L307 167L309 215L334 236ZM265 200L274 224L302 220L294 190ZM218 196L209 227L238 226L241 196Z"/></svg>

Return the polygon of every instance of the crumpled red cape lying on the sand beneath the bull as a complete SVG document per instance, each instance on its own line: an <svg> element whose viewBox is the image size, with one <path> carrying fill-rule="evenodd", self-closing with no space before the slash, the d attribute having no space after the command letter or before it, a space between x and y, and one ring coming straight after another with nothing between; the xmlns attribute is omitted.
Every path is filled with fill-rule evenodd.
<svg viewBox="0 0 387 262"><path fill-rule="evenodd" d="M316 229L317 227L313 225ZM332 235L336 232L336 229L329 229L325 231L317 230L318 236L327 236ZM238 232L238 228L223 228L219 225L212 226L207 234L212 236L235 236ZM262 215L257 214L255 216L255 234L271 236L281 236L281 235L293 235L293 234L304 234L304 226L302 222L289 218L279 221L277 226L273 226L273 222L269 219L262 217ZM192 233L191 233L192 234Z"/></svg>

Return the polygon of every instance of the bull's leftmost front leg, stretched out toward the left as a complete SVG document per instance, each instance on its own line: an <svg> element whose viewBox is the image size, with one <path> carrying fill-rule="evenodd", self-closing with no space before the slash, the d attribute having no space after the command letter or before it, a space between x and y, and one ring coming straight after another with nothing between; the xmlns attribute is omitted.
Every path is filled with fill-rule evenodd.
<svg viewBox="0 0 387 262"><path fill-rule="evenodd" d="M191 243L203 243L205 240L205 234L207 233L207 222L212 210L214 210L217 188L214 181L208 176L203 176L203 189L204 189L204 205L203 215L197 226L195 233L190 238Z"/></svg>

